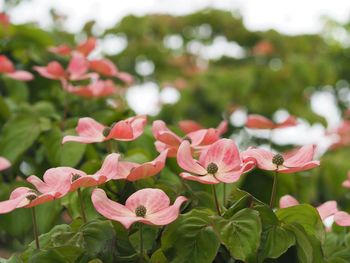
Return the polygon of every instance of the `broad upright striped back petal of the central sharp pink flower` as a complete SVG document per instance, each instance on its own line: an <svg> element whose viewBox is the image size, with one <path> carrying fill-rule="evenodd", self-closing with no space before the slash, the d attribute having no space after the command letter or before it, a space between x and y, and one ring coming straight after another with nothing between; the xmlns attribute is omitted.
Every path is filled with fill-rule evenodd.
<svg viewBox="0 0 350 263"><path fill-rule="evenodd" d="M221 139L210 145L205 157L201 157L204 167L210 163L215 163L219 171L228 172L241 165L241 157L234 141L230 139Z"/></svg>

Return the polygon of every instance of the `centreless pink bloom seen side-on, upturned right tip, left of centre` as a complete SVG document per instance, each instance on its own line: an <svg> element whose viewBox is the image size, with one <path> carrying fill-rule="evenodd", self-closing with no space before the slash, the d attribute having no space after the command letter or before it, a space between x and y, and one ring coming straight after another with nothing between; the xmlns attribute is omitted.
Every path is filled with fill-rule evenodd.
<svg viewBox="0 0 350 263"><path fill-rule="evenodd" d="M119 162L116 179L123 178L128 181L137 181L154 176L163 170L165 166L166 156L167 150L161 152L160 155L151 162L143 164L126 161Z"/></svg>

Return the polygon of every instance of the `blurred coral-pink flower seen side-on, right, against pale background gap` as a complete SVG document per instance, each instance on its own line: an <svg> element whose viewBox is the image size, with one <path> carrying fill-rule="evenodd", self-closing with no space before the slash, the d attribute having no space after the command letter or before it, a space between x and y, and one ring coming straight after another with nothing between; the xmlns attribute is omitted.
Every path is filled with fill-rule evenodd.
<svg viewBox="0 0 350 263"><path fill-rule="evenodd" d="M291 126L296 126L298 124L297 119L294 116L289 116L285 121L281 123L274 123L264 116L251 114L248 116L248 120L245 124L247 128L250 129L278 129L286 128Z"/></svg>

